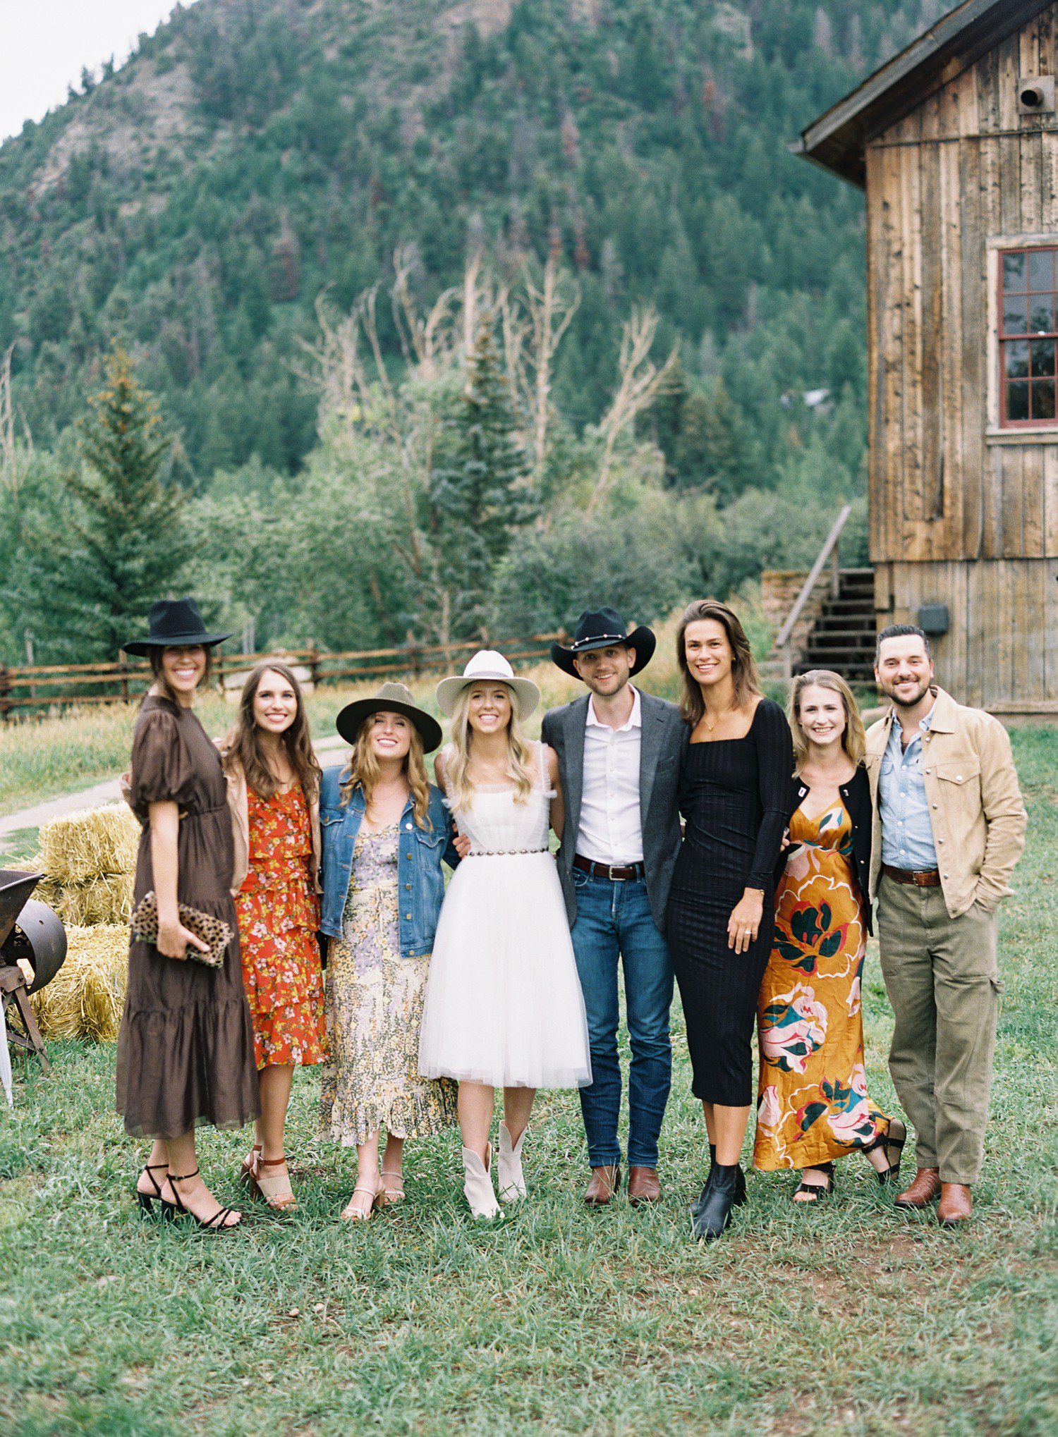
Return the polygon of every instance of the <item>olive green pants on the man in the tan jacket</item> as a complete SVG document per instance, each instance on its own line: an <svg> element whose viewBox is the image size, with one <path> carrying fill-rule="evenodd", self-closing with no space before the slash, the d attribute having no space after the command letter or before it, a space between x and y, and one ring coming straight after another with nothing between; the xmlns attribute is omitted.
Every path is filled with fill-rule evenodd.
<svg viewBox="0 0 1058 1437"><path fill-rule="evenodd" d="M916 1165L975 1183L985 1147L1000 983L996 915L950 918L940 888L883 875L881 971L896 1025L888 1071L914 1124Z"/></svg>

